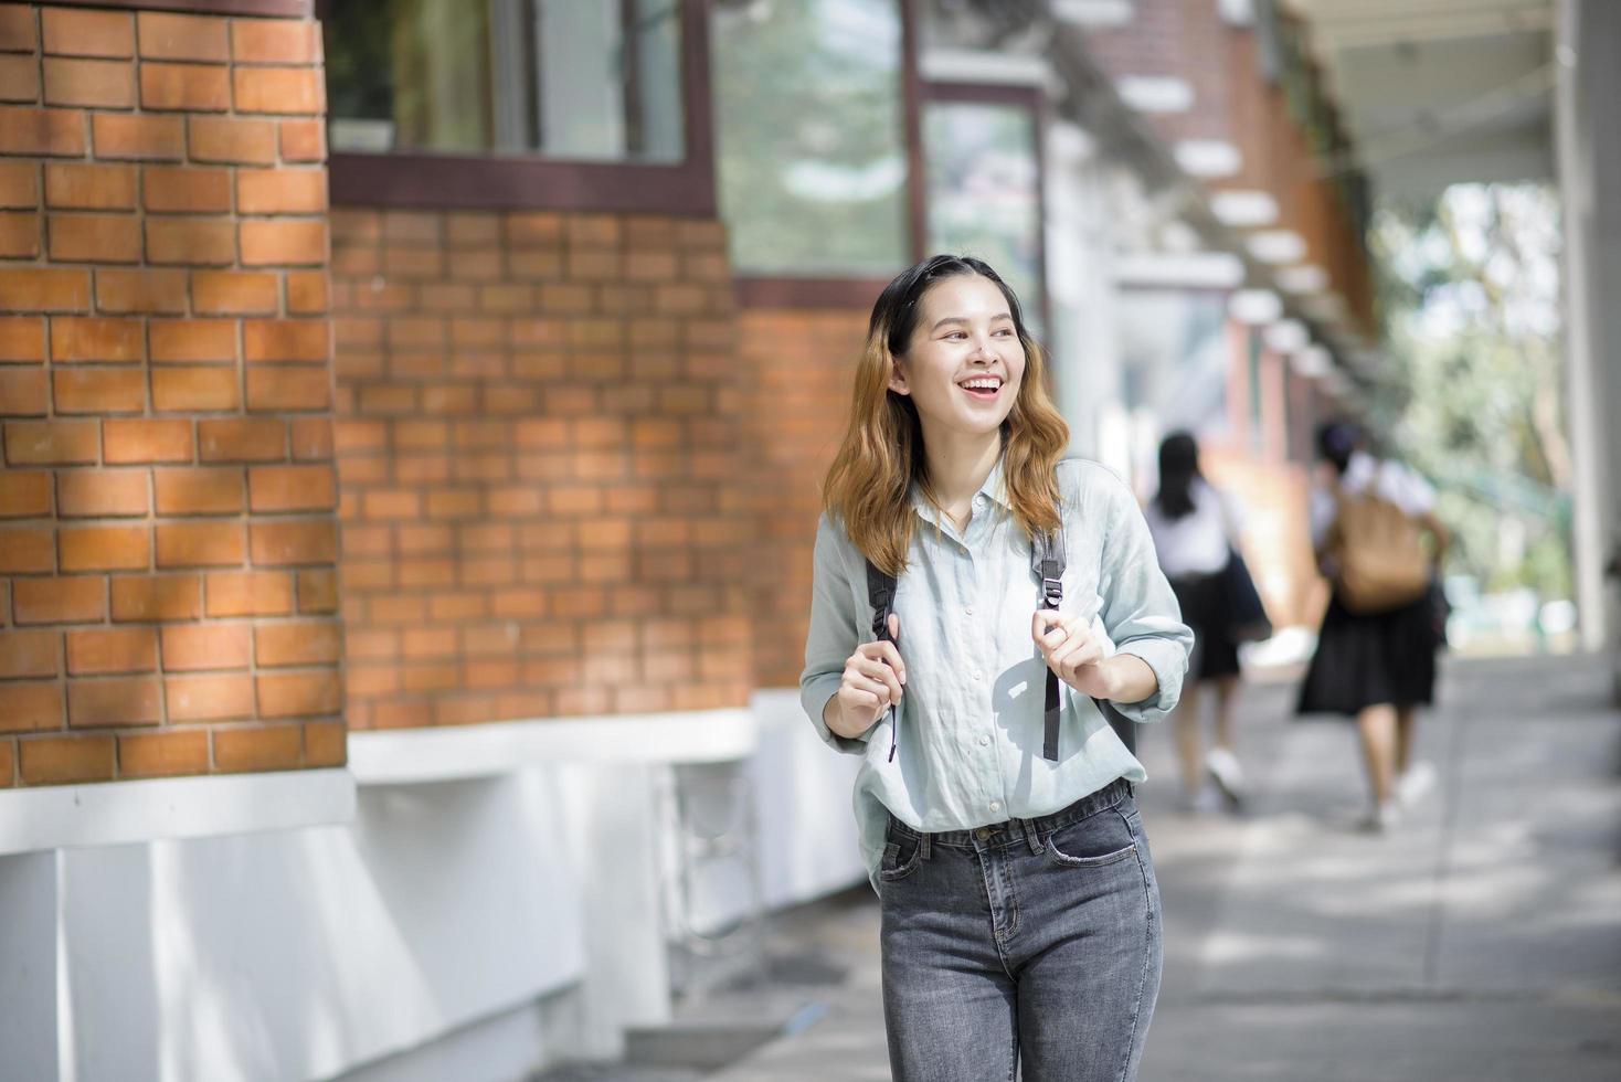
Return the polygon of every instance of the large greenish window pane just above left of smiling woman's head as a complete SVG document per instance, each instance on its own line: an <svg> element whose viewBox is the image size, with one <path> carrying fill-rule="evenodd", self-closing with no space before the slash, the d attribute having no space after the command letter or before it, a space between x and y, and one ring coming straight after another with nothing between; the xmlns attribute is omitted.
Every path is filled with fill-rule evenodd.
<svg viewBox="0 0 1621 1082"><path fill-rule="evenodd" d="M716 172L738 269L880 275L909 262L893 0L713 10Z"/></svg>

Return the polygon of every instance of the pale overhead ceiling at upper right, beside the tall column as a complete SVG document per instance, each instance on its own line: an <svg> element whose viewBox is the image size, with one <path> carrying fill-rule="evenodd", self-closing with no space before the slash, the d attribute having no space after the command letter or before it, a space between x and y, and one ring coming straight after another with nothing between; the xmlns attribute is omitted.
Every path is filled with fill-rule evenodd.
<svg viewBox="0 0 1621 1082"><path fill-rule="evenodd" d="M1375 191L1553 177L1553 0L1282 0Z"/></svg>

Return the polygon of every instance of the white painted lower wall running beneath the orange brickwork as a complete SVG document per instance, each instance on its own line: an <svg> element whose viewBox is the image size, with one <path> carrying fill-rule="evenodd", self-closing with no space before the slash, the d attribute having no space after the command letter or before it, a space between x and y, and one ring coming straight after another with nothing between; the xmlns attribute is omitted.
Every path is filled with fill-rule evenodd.
<svg viewBox="0 0 1621 1082"><path fill-rule="evenodd" d="M856 760L815 739L796 692L648 724L665 722L751 777L770 907L866 878ZM537 747L567 758L559 732ZM627 1025L669 1017L671 766L613 732L629 761L451 781L399 781L400 748L373 748L357 761L396 781L361 777L347 824L0 857L0 1077L517 1082L619 1054ZM490 735L468 740L423 743L421 773L486 761Z"/></svg>

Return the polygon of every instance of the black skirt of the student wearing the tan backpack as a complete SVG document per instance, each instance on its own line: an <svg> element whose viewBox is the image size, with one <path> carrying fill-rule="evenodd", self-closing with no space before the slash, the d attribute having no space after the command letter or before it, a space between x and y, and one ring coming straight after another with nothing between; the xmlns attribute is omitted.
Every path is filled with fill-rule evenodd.
<svg viewBox="0 0 1621 1082"><path fill-rule="evenodd" d="M1355 716L1386 703L1428 706L1435 701L1435 656L1441 645L1435 622L1428 594L1368 616L1347 609L1336 593L1295 713Z"/></svg>

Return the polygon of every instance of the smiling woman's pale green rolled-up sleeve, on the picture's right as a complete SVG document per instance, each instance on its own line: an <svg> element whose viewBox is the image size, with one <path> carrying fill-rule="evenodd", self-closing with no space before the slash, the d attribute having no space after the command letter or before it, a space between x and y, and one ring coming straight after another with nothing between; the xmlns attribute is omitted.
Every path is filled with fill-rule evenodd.
<svg viewBox="0 0 1621 1082"><path fill-rule="evenodd" d="M1136 654L1154 671L1159 692L1140 703L1115 703L1136 722L1161 721L1182 698L1182 679L1193 650L1193 628L1159 570L1143 510L1115 476L1102 486L1109 523L1102 546L1102 620L1118 653Z"/></svg>

